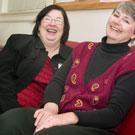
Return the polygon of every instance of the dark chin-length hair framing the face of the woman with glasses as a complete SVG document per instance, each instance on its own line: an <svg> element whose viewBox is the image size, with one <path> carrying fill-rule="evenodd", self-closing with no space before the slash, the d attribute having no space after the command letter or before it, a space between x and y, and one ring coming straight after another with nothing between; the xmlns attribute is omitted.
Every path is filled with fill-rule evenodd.
<svg viewBox="0 0 135 135"><path fill-rule="evenodd" d="M64 18L64 30L63 30L63 35L62 35L61 41L60 41L61 44L64 44L68 40L70 24L69 24L69 20L68 20L66 11L58 5L47 6L38 13L32 33L34 36L38 36L38 32L39 32L38 28L40 26L41 20L43 19L44 16L46 16L53 9L59 10L62 13L63 18Z"/></svg>

